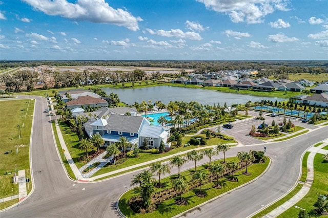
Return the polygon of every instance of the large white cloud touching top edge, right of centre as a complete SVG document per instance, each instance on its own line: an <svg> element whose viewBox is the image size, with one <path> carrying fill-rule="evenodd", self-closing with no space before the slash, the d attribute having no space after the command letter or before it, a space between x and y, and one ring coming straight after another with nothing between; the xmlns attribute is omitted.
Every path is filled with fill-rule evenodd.
<svg viewBox="0 0 328 218"><path fill-rule="evenodd" d="M207 9L227 13L234 23L263 23L263 18L275 10L288 11L288 0L231 0L213 1L196 0L203 3Z"/></svg>

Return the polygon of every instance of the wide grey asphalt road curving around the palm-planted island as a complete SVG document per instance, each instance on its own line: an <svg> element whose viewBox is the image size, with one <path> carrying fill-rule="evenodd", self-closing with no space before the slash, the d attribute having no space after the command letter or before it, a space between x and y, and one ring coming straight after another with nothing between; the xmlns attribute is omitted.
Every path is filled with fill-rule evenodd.
<svg viewBox="0 0 328 218"><path fill-rule="evenodd" d="M28 96L26 97L28 98ZM0 217L119 217L115 209L121 193L129 189L133 174L103 182L78 183L68 179L54 144L45 98L36 98L32 138L32 171L35 189L29 198L0 213ZM293 140L265 144L272 159L270 169L254 183L187 214L187 217L247 217L293 187L299 176L303 151L326 138L327 127ZM240 150L262 150L263 145L234 147L226 157ZM218 158L222 158L220 154ZM207 158L198 164L208 162ZM193 162L181 170L192 168ZM173 168L172 173L177 169Z"/></svg>

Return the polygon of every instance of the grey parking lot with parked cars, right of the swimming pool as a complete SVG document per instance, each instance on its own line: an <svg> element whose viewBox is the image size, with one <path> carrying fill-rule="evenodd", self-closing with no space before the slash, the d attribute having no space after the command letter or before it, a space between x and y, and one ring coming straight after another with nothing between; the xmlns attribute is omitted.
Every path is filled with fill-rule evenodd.
<svg viewBox="0 0 328 218"><path fill-rule="evenodd" d="M221 126L221 132L223 134L226 134L228 136L232 136L240 142L243 145L250 145L250 144L260 144L260 143L265 143L265 141L262 141L260 139L254 138L249 136L249 133L251 131L252 125L254 125L257 129L257 126L263 122L263 120L258 120L255 117L258 117L258 112L257 111L249 111L249 115L253 116L254 118L249 118L245 120L237 120L235 122L232 122L234 125L233 128L228 129L224 128ZM289 119L291 119L292 123L296 126L302 126L304 128L308 129L315 129L318 128L317 126L308 124L308 123L302 123L299 118L294 118L294 117L288 117L288 116L277 116L277 117L271 117L271 113L263 113L262 117L265 118L264 122L267 123L269 126L271 125L272 121L274 120L275 123L280 123L283 122L283 118L286 117L287 122Z"/></svg>

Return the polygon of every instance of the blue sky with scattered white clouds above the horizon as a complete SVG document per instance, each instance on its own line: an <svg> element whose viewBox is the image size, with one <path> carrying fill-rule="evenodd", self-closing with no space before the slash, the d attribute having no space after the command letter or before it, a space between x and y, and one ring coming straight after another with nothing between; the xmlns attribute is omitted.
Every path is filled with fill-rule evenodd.
<svg viewBox="0 0 328 218"><path fill-rule="evenodd" d="M328 1L0 0L0 59L328 59Z"/></svg>

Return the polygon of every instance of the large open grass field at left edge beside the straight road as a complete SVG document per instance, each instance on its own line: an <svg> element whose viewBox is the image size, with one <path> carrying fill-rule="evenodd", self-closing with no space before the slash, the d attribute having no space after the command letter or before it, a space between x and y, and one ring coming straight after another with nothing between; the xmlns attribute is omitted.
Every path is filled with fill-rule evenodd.
<svg viewBox="0 0 328 218"><path fill-rule="evenodd" d="M0 104L2 123L0 126L0 199L2 199L18 194L18 184L14 185L13 183L15 167L17 167L17 171L25 169L26 177L31 178L29 149L34 100L2 101ZM19 125L22 135L20 139L17 125ZM18 147L17 155L16 147ZM6 151L9 151L9 154L5 155ZM30 182L31 189L32 183ZM3 207L1 206L3 204L8 205L8 203L1 203L0 207Z"/></svg>

